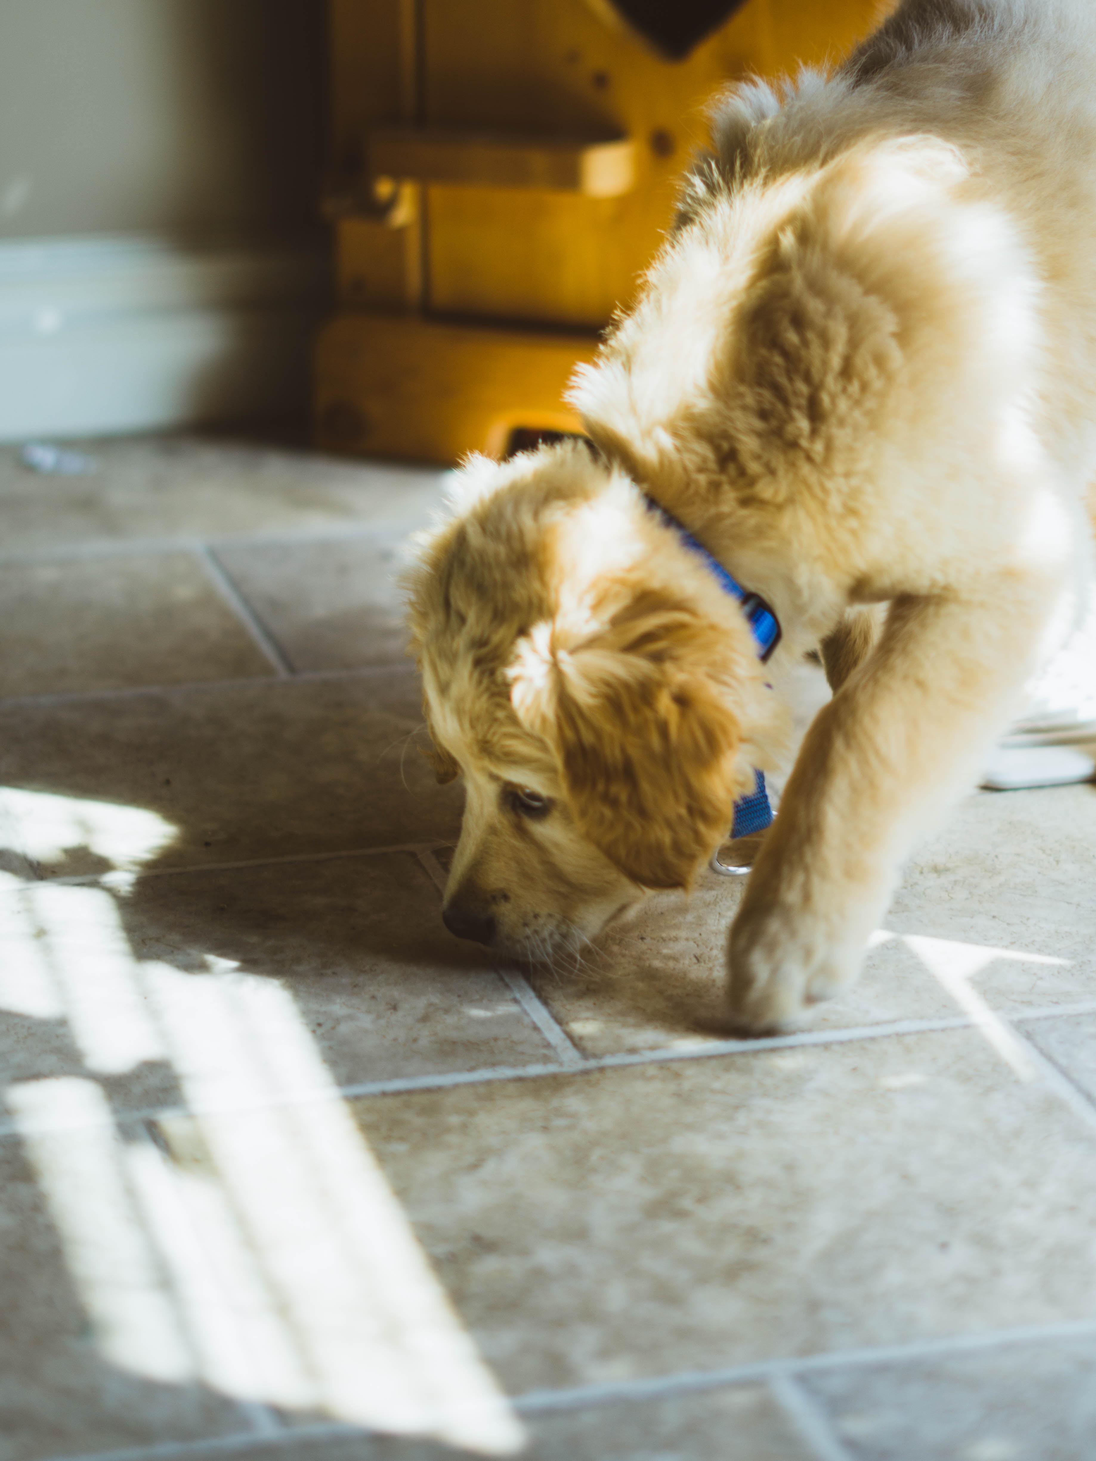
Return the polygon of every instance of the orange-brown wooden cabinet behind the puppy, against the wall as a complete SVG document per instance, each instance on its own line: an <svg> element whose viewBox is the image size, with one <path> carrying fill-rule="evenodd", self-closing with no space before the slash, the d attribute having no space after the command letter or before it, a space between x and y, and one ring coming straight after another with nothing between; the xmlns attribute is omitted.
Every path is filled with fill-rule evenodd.
<svg viewBox="0 0 1096 1461"><path fill-rule="evenodd" d="M840 56L877 12L748 0L668 61L589 0L330 0L319 444L452 462L573 428L563 389L633 300L712 95Z"/></svg>

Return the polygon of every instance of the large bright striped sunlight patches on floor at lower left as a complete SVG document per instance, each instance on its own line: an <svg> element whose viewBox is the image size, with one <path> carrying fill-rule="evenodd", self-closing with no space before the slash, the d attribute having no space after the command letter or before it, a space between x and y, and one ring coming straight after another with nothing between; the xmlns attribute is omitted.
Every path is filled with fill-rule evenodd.
<svg viewBox="0 0 1096 1461"><path fill-rule="evenodd" d="M133 865L171 833L102 805L45 798L38 852L95 839ZM0 878L0 1007L64 1020L82 1065L4 1099L102 1357L484 1455L520 1449L288 991L213 951L205 973L136 958L126 900L104 887ZM178 1113L118 1126L92 1077L155 1064Z"/></svg>

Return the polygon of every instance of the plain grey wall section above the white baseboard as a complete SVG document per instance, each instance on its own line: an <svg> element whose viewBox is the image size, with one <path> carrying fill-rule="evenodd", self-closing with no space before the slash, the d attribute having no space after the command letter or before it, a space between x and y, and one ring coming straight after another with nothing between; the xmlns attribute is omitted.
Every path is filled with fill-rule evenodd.
<svg viewBox="0 0 1096 1461"><path fill-rule="evenodd" d="M314 228L323 0L0 0L0 235Z"/></svg>

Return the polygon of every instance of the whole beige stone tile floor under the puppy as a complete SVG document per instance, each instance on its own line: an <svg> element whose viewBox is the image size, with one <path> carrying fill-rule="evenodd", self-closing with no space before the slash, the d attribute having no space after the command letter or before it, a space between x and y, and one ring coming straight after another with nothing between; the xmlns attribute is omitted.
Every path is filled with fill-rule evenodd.
<svg viewBox="0 0 1096 1461"><path fill-rule="evenodd" d="M1093 787L967 798L798 1036L719 1029L723 880L494 967L440 473L88 449L0 451L0 1461L1096 1454Z"/></svg>

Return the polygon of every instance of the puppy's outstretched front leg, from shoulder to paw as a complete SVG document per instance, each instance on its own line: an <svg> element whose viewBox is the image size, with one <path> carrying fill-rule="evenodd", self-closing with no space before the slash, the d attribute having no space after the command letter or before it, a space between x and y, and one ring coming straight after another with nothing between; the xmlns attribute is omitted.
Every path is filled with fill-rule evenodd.
<svg viewBox="0 0 1096 1461"><path fill-rule="evenodd" d="M808 732L732 925L737 1026L779 1027L855 977L913 842L1007 723L1052 599L1045 580L1001 574L891 603Z"/></svg>

